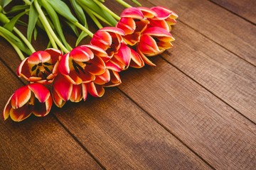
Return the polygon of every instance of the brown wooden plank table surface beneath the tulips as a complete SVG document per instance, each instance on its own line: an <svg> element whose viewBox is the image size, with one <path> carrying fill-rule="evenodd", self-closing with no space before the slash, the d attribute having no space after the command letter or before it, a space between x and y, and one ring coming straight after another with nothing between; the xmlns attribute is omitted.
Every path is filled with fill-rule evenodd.
<svg viewBox="0 0 256 170"><path fill-rule="evenodd" d="M102 98L45 118L1 120L0 169L255 169L255 2L144 1L179 15L157 67L129 69ZM23 81L13 48L0 45L2 111Z"/></svg>

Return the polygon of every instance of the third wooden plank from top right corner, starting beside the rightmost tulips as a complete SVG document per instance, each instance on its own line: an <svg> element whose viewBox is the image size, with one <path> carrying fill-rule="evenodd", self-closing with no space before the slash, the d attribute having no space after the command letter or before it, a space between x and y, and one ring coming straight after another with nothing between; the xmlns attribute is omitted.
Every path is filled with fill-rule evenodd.
<svg viewBox="0 0 256 170"><path fill-rule="evenodd" d="M256 123L256 67L179 23L175 50L162 56Z"/></svg>

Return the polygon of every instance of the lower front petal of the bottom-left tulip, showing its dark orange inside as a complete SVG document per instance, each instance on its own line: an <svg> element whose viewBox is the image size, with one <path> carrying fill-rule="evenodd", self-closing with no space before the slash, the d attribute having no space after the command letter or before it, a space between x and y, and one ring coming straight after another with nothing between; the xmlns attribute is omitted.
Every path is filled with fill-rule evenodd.
<svg viewBox="0 0 256 170"><path fill-rule="evenodd" d="M10 117L12 120L16 122L20 122L21 120L28 118L28 116L31 115L32 110L33 110L33 107L29 105L25 105L17 109L11 108Z"/></svg>

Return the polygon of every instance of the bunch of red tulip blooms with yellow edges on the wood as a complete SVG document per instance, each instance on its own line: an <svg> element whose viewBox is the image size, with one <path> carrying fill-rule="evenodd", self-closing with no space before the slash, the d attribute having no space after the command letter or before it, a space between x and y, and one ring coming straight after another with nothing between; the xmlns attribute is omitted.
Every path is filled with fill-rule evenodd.
<svg viewBox="0 0 256 170"><path fill-rule="evenodd" d="M141 68L144 64L154 66L149 57L173 46L170 32L178 16L164 7L128 6L120 17L115 16L118 19L115 26L100 28L94 34L71 17L69 21L92 37L89 44L72 49L68 43L58 40L38 2L35 0L33 4L53 47L35 51L28 46L33 53L22 60L17 75L29 84L9 98L4 120L10 115L12 120L21 121L32 113L42 117L50 113L53 103L61 108L67 101L85 101L88 94L101 97L105 87L121 84L119 72L129 67ZM42 6L49 10L48 4Z"/></svg>

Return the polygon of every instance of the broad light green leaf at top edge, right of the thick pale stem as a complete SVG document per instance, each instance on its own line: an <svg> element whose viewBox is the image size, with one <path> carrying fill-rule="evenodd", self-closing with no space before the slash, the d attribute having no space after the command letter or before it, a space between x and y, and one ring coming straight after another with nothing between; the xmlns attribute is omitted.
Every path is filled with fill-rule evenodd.
<svg viewBox="0 0 256 170"><path fill-rule="evenodd" d="M70 8L68 8L67 4L65 2L60 0L47 0L50 5L54 8L54 10L60 14L60 16L63 16L68 21L75 23L78 22L77 18L73 16L73 14L70 11Z"/></svg>

